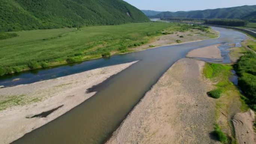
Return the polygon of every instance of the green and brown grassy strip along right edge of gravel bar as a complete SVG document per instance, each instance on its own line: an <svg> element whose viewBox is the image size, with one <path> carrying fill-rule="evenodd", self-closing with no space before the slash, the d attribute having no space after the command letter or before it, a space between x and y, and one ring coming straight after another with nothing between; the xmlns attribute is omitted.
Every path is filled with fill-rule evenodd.
<svg viewBox="0 0 256 144"><path fill-rule="evenodd" d="M232 66L227 64L205 64L204 75L213 83L215 89L208 94L216 99L215 133L221 143L236 144L234 128L231 119L234 114L247 107L241 101L239 89L229 81Z"/></svg>

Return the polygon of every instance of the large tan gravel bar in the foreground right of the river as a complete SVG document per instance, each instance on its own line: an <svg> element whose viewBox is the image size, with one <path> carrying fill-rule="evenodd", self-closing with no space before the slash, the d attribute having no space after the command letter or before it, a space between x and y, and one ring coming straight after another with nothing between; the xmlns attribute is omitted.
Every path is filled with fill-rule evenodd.
<svg viewBox="0 0 256 144"><path fill-rule="evenodd" d="M177 61L146 93L106 144L215 144L215 102L204 62Z"/></svg>

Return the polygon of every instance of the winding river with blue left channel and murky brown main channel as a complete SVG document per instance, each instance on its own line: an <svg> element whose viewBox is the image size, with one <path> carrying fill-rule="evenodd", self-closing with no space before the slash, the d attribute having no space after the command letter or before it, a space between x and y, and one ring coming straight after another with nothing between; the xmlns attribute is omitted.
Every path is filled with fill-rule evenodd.
<svg viewBox="0 0 256 144"><path fill-rule="evenodd" d="M0 85L12 86L32 83L98 67L140 60L131 67L103 82L94 96L68 111L63 116L38 128L14 144L101 144L107 140L125 119L129 111L150 90L159 77L177 60L185 58L190 50L205 46L240 43L245 35L238 31L213 27L220 31L218 39L180 45L162 46L140 52L115 55L109 59L86 61L74 66L62 66L37 73L22 73L4 77ZM21 78L17 82L13 79ZM86 89L85 89L86 91Z"/></svg>

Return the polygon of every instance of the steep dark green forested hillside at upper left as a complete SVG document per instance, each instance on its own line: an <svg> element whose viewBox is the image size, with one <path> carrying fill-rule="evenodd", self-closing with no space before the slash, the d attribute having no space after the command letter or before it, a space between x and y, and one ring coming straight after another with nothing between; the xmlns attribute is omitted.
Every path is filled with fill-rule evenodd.
<svg viewBox="0 0 256 144"><path fill-rule="evenodd" d="M147 22L123 0L1 0L0 31Z"/></svg>

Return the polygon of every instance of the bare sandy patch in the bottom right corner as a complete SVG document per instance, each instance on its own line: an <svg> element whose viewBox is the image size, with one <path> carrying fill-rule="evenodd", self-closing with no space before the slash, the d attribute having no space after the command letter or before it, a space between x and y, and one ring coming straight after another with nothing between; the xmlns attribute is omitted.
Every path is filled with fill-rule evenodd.
<svg viewBox="0 0 256 144"><path fill-rule="evenodd" d="M238 144L256 144L256 133L253 131L255 114L252 110L236 114L232 121Z"/></svg>

